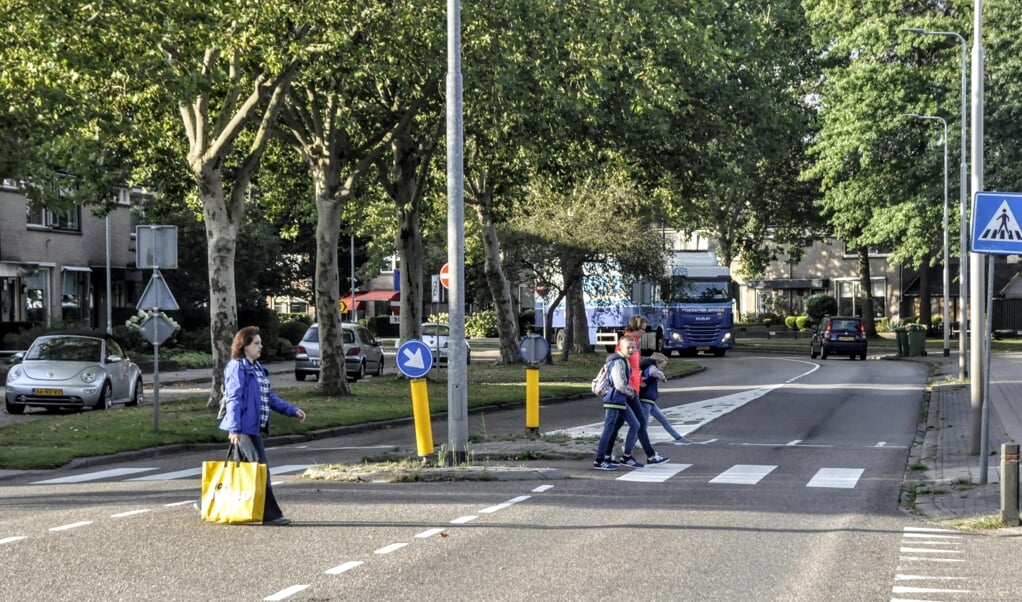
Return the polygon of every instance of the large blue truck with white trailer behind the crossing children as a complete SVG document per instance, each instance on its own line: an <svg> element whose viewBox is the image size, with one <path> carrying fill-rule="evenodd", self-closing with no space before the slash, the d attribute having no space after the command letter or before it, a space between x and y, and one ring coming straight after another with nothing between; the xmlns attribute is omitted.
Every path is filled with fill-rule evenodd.
<svg viewBox="0 0 1022 602"><path fill-rule="evenodd" d="M613 351L629 318L642 315L649 322L641 343L644 353L695 356L705 352L723 357L735 344L732 289L731 271L716 265L713 251L672 251L664 278L633 283L630 298L586 296L589 342ZM541 327L543 319L537 312ZM554 309L551 326L560 349L565 338L563 305Z"/></svg>

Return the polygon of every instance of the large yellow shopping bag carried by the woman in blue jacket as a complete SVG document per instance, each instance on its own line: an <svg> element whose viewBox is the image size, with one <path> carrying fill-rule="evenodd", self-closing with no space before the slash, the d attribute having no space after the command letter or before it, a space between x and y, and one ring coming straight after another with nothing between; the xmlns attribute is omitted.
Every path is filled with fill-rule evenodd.
<svg viewBox="0 0 1022 602"><path fill-rule="evenodd" d="M234 446L227 451L227 460L203 462L202 520L262 522L266 472L266 464L241 462Z"/></svg>

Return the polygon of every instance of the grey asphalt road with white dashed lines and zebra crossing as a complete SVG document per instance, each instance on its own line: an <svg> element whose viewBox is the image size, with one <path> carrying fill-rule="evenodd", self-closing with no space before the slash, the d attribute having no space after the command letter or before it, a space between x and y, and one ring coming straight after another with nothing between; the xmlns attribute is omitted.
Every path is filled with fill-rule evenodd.
<svg viewBox="0 0 1022 602"><path fill-rule="evenodd" d="M547 481L345 483L300 467L414 450L401 426L270 451L288 527L220 526L173 476L210 454L46 471L0 482L0 599L1010 600L995 538L931 530L898 509L925 367L738 354L667 383L690 446L598 472L545 461ZM599 404L545 406L586 432ZM521 429L520 411L471 432ZM444 441L446 424L434 424ZM655 431L655 429L654 429ZM659 436L659 433L655 433ZM594 444L595 445L595 444ZM641 454L639 455L641 458ZM135 470L88 478L101 470ZM161 476L166 475L166 476ZM149 480L129 480L149 478ZM50 481L50 482L40 482ZM24 539L12 539L24 538ZM1017 552L1017 551L1016 551Z"/></svg>

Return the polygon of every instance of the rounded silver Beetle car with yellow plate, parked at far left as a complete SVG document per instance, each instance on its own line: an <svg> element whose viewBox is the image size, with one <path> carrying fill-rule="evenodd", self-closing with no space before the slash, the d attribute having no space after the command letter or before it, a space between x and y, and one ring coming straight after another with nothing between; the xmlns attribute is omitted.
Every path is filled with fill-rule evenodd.
<svg viewBox="0 0 1022 602"><path fill-rule="evenodd" d="M112 338L46 334L7 372L8 414L26 408L92 408L143 402L142 370Z"/></svg>

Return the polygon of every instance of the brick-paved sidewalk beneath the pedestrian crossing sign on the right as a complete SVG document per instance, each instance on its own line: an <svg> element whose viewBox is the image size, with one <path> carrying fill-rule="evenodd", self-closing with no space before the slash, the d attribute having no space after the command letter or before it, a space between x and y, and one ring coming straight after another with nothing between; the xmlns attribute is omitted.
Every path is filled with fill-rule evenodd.
<svg viewBox="0 0 1022 602"><path fill-rule="evenodd" d="M979 484L980 456L970 454L972 392L968 383L958 382L958 355L936 360L930 356L926 361L938 370L933 377L925 431L913 446L905 471L904 484L917 485L915 508L933 520L989 516L1000 520L1001 445L1022 441L1022 354L992 355L988 393L990 455L985 484Z"/></svg>

